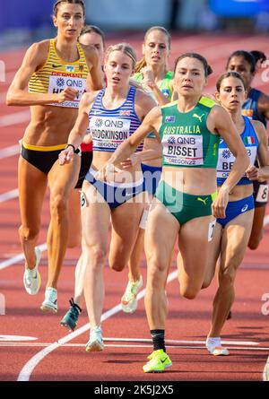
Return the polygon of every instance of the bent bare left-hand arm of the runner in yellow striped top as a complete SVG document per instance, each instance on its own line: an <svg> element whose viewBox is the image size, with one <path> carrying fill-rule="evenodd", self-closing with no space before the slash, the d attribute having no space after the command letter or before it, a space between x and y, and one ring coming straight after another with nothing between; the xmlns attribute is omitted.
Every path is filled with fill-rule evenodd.
<svg viewBox="0 0 269 399"><path fill-rule="evenodd" d="M46 105L51 102L74 100L77 91L66 88L59 94L29 93L26 91L30 76L45 64L48 56L49 40L34 43L27 50L22 65L13 78L7 95L6 104L12 106Z"/></svg>

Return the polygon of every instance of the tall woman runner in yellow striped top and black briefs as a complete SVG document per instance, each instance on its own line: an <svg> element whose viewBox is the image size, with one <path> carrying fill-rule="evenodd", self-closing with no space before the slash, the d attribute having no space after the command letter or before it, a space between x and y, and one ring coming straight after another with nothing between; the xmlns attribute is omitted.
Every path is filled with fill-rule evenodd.
<svg viewBox="0 0 269 399"><path fill-rule="evenodd" d="M40 215L47 186L50 188L48 227L48 283L41 309L57 311L56 284L68 238L67 202L80 169L77 154L65 168L58 154L78 114L87 86L101 88L99 59L94 48L77 43L84 22L82 0L60 0L54 5L55 39L34 43L7 93L7 105L30 106L31 120L22 138L19 160L20 239L25 255L23 282L31 295L40 287L38 271ZM90 73L90 74L89 74ZM29 92L25 91L29 84ZM61 173L59 173L59 168Z"/></svg>

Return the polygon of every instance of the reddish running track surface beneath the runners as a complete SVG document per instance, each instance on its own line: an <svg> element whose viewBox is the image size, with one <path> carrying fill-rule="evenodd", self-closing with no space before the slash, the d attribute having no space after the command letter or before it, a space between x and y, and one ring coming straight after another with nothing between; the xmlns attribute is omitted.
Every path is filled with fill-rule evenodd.
<svg viewBox="0 0 269 399"><path fill-rule="evenodd" d="M118 35L108 39L108 44L122 40L130 42L141 56L143 35ZM222 73L231 51L260 49L269 54L265 37L185 36L175 35L172 43L171 63L181 53L197 51L213 65L214 74L206 91L214 91L214 82ZM87 353L88 319L85 309L80 317L75 336L59 325L68 308L68 299L74 291L74 265L79 249L67 250L65 264L58 286L59 310L54 316L42 314L39 306L43 300L47 279L47 252L40 263L42 286L39 294L30 297L22 286L23 261L14 256L22 253L17 229L20 215L17 197L16 168L18 140L29 120L28 108L7 108L4 97L13 75L21 64L24 50L0 54L4 60L6 82L0 86L0 301L5 299L5 315L0 329L0 380L93 380L93 381L180 381L180 380L256 380L263 378L263 369L269 354L268 317L268 247L269 228L258 250L247 250L236 280L236 300L232 318L223 329L222 339L230 343L229 357L210 356L204 349L205 336L210 327L212 300L216 282L197 299L187 300L178 295L175 262L171 269L171 282L167 287L169 317L166 326L168 352L173 367L160 375L144 375L142 366L152 351L150 335L143 308L143 298L134 315L124 314L117 306L126 288L127 272L105 270L106 301L104 321L105 351ZM268 71L267 71L268 77ZM269 92L268 83L261 74L256 76L256 87ZM42 230L39 244L46 241L48 228L48 195L44 203ZM194 248L195 250L195 248ZM199 256L199 254L197 254ZM8 265L9 264L11 265ZM146 265L143 257L143 277ZM267 293L267 295L265 295ZM143 292L142 295L143 297ZM263 300L264 299L264 300ZM264 306L264 313L262 307ZM0 307L3 313L3 306ZM81 328L83 325L86 327ZM23 338L24 337L24 338ZM26 337L26 338L25 338ZM28 338L27 338L28 337ZM30 337L34 340L30 340ZM64 338L64 340L63 340ZM170 340L170 341L169 341ZM58 343L57 343L58 342ZM55 343L54 345L52 345ZM57 344L56 344L57 343Z"/></svg>

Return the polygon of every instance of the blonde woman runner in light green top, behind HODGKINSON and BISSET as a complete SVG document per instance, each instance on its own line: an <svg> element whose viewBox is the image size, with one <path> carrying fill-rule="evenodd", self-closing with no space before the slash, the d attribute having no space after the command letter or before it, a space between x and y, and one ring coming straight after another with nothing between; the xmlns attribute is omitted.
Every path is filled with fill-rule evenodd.
<svg viewBox="0 0 269 399"><path fill-rule="evenodd" d="M135 66L133 76L135 82L139 82L143 89L152 95L156 104L164 105L172 99L173 72L168 70L171 37L169 31L162 26L152 26L146 31L142 46L143 58ZM159 149L160 144L154 133L148 134L143 142L143 150ZM134 154L131 160L139 159L140 154ZM145 160L142 163L142 170L145 182L145 189L149 196L149 204L155 195L156 188L161 178L162 160ZM127 165L124 162L123 165ZM140 271L141 256L143 253L144 229L147 220L149 204L143 213L143 221L134 245L134 250L128 264L129 274L126 291L121 299L122 309L126 313L134 313L137 308L137 294L142 288L143 278Z"/></svg>

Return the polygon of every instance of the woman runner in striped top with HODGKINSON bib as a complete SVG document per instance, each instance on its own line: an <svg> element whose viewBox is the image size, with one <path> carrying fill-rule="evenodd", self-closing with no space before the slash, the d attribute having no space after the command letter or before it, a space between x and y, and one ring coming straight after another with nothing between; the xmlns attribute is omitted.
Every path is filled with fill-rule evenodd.
<svg viewBox="0 0 269 399"><path fill-rule="evenodd" d="M84 295L91 324L86 351L104 348L100 318L104 301L103 268L108 252L108 227L112 221L108 263L116 271L126 266L134 247L144 208L143 173L140 163L126 172L118 168L104 183L98 170L120 143L126 141L155 102L129 84L136 56L125 43L108 48L104 70L107 88L82 96L79 117L69 135L67 149L60 153L62 165L74 156L89 124L93 160L82 186L82 256L86 264ZM142 151L140 145L138 151Z"/></svg>

